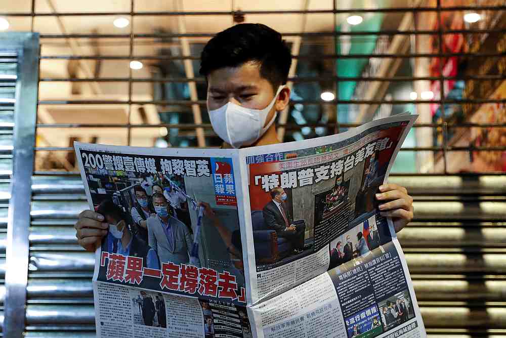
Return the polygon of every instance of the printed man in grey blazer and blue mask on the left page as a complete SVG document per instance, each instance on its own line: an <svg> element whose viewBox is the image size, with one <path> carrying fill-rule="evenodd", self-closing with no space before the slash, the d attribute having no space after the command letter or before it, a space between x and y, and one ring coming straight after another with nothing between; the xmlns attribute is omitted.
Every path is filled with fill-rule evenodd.
<svg viewBox="0 0 506 338"><path fill-rule="evenodd" d="M188 264L193 243L188 227L169 215L169 203L162 194L154 193L152 201L156 216L147 221L149 246L158 254L160 265L167 262Z"/></svg>

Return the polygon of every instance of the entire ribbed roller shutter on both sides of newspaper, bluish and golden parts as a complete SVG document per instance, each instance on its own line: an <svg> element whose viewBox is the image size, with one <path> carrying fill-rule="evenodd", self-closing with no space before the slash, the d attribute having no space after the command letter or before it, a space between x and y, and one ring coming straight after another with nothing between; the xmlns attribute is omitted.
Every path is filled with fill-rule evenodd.
<svg viewBox="0 0 506 338"><path fill-rule="evenodd" d="M399 234L431 337L504 336L506 176L403 176L415 220ZM72 224L86 208L77 175L33 177L27 337L92 337L93 255Z"/></svg>

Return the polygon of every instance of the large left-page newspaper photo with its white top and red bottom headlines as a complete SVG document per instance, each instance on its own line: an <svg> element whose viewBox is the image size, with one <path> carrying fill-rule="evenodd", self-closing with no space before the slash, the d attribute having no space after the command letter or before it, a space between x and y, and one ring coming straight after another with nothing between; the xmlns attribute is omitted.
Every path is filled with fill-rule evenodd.
<svg viewBox="0 0 506 338"><path fill-rule="evenodd" d="M96 280L245 304L231 157L84 144L76 152L90 206L109 223Z"/></svg>

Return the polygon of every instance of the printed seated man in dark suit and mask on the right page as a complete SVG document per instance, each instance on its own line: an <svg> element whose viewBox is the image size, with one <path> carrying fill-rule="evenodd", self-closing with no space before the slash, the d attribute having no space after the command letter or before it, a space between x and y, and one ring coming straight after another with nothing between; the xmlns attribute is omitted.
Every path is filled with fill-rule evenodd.
<svg viewBox="0 0 506 338"><path fill-rule="evenodd" d="M282 188L271 190L272 200L263 208L265 224L268 228L275 230L278 237L284 237L292 244L293 254L300 254L304 251L304 234L306 225L294 225L288 220L284 201L286 193Z"/></svg>

